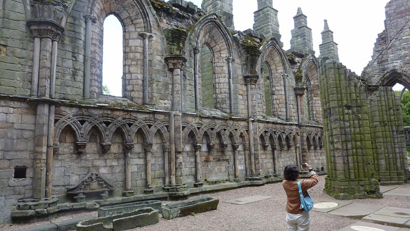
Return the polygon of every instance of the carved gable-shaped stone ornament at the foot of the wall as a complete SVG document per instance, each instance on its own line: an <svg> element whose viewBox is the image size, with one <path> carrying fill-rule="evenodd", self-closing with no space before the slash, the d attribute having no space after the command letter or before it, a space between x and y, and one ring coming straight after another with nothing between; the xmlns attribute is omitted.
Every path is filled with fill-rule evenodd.
<svg viewBox="0 0 410 231"><path fill-rule="evenodd" d="M80 194L97 191L111 191L113 186L96 172L90 172L79 184L67 189L67 194Z"/></svg>

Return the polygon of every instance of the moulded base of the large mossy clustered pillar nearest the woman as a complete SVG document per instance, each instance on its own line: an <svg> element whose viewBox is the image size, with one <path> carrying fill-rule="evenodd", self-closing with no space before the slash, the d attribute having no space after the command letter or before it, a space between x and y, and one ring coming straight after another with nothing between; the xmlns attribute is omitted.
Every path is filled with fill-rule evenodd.
<svg viewBox="0 0 410 231"><path fill-rule="evenodd" d="M363 181L338 181L326 177L323 191L337 200L383 198L379 182L374 178Z"/></svg>

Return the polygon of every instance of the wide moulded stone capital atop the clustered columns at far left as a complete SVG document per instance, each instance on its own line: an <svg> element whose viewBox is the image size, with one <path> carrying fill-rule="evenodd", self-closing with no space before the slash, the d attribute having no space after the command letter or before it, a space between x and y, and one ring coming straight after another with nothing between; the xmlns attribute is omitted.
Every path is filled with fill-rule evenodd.
<svg viewBox="0 0 410 231"><path fill-rule="evenodd" d="M64 32L64 27L50 20L29 20L27 26L30 27L34 37L48 37L53 41L59 41Z"/></svg>

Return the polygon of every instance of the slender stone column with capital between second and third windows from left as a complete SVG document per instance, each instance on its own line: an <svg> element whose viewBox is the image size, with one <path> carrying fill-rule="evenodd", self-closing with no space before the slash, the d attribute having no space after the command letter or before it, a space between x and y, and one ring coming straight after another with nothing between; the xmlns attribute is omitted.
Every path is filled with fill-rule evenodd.
<svg viewBox="0 0 410 231"><path fill-rule="evenodd" d="M251 175L255 175L255 146L254 146L254 128L253 128L253 120L255 116L254 112L254 104L252 103L252 98L254 97L254 92L252 89L255 88L255 85L258 81L259 76L257 74L248 74L245 75L245 83L247 84L247 98L248 98L248 136L249 136L249 146L250 146L250 164L251 164Z"/></svg>

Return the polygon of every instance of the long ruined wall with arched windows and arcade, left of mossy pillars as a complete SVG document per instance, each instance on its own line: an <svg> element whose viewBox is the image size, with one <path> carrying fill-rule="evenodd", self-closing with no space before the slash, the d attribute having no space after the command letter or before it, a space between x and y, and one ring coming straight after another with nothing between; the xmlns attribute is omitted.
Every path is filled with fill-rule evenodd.
<svg viewBox="0 0 410 231"><path fill-rule="evenodd" d="M0 223L85 206L84 187L87 201L104 191L121 201L279 181L287 164L325 173L319 62L310 48L283 50L272 1L258 8L256 32L241 32L228 0L203 10L179 0L1 2ZM122 97L103 94L110 14L123 29ZM269 30L257 26L263 15ZM311 36L300 28L299 48L299 35ZM49 208L27 205L50 197Z"/></svg>

